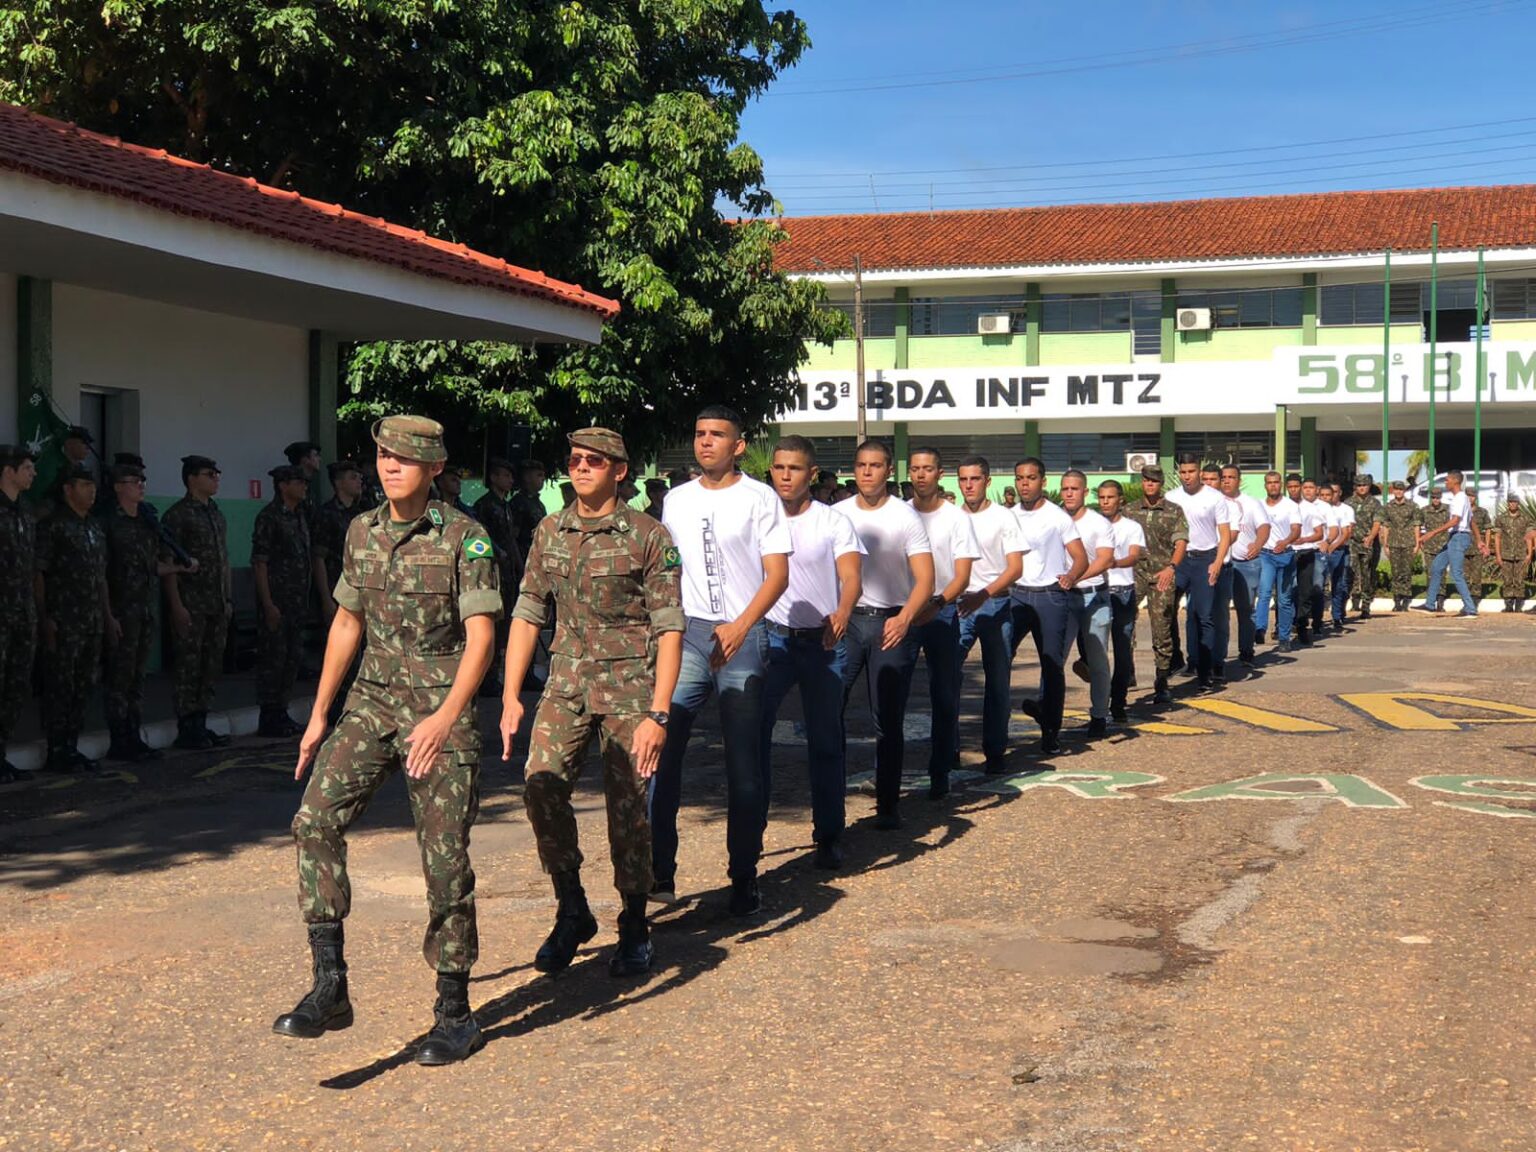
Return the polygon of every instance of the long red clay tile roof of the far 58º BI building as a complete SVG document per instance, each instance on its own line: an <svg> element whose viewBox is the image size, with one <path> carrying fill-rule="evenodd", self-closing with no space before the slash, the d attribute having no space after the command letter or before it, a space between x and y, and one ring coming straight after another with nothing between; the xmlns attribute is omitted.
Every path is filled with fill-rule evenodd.
<svg viewBox="0 0 1536 1152"><path fill-rule="evenodd" d="M1132 264L1536 244L1536 184L1174 200L1152 204L791 217L785 272ZM820 260L822 264L813 263Z"/></svg>

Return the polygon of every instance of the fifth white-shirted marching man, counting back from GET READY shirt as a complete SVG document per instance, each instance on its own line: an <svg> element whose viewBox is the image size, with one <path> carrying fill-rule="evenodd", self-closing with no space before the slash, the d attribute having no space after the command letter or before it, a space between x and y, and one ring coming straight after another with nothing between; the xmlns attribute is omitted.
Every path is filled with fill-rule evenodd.
<svg viewBox="0 0 1536 1152"><path fill-rule="evenodd" d="M1014 673L1014 613L1009 590L1025 570L1025 541L1012 508L986 496L992 465L966 456L955 472L977 550L971 587L960 598L960 653L982 644L982 753L988 776L1000 776L1008 753L1008 690ZM1012 492L1012 488L1009 488Z"/></svg>

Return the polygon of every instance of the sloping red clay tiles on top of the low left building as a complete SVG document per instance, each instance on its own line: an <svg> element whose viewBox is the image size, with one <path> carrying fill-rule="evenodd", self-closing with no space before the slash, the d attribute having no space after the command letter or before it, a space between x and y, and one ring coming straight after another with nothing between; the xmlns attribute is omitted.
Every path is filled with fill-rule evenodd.
<svg viewBox="0 0 1536 1152"><path fill-rule="evenodd" d="M387 220L307 200L207 164L0 103L0 169L132 200L180 217L370 260L433 280L613 316L617 301Z"/></svg>

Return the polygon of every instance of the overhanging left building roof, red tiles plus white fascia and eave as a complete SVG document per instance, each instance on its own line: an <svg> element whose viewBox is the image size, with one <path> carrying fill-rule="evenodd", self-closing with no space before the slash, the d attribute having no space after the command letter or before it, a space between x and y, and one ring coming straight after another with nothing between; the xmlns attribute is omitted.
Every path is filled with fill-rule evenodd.
<svg viewBox="0 0 1536 1152"><path fill-rule="evenodd" d="M598 343L616 301L0 104L0 270L343 339Z"/></svg>

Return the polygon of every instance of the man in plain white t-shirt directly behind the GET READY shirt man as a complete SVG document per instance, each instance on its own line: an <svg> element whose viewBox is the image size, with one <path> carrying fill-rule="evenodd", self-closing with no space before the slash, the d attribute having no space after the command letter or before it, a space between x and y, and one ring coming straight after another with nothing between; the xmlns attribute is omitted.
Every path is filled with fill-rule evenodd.
<svg viewBox="0 0 1536 1152"><path fill-rule="evenodd" d="M848 771L843 740L843 664L848 621L859 602L863 545L846 516L811 499L816 445L785 436L773 450L774 492L790 525L790 590L768 610L768 684L763 690L763 823L768 822L770 754L779 705L800 688L805 753L811 776L811 839L816 866L837 868Z"/></svg>

